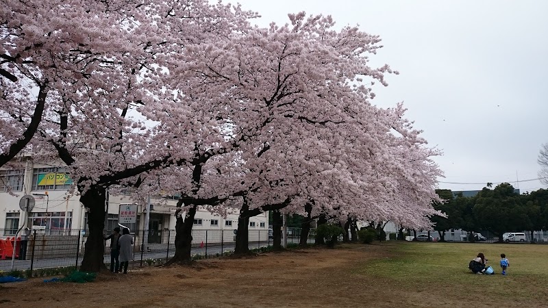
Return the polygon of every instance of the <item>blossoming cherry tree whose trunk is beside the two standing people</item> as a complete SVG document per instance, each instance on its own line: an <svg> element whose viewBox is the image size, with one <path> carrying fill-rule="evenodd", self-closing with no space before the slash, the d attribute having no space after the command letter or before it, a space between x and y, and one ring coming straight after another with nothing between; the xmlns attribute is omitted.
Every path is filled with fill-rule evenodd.
<svg viewBox="0 0 548 308"><path fill-rule="evenodd" d="M238 27L247 25L247 18L254 14L232 5L210 5L207 1L53 4L42 1L45 8L37 4L38 1L28 2L30 5L13 1L8 8L16 11L18 4L25 8L10 21L10 25L22 25L24 33L17 35L25 34L29 42L21 43L20 49L41 47L42 37L50 33L62 36L57 40L60 46L55 47L55 41L51 42L51 49L44 51L43 59L40 58L45 62L53 58L45 67L52 68L51 74L58 79L55 82L47 79L47 94L55 104L45 107L37 142L43 153L56 153L69 166L80 201L88 209L90 235L82 270L98 271L103 264L101 233L107 188L119 184L138 186L142 183L138 176L155 168L187 162L199 164L199 158L189 156L192 151L187 151L188 145L195 142L177 138L183 137L177 133L184 131L186 125L195 124L195 116L185 112L184 104L202 89L199 86L192 89L195 85L187 84L177 88L184 94L166 91L172 80L178 78L166 70L167 60L177 58L176 48L182 57L170 68L189 66L185 53L188 50L191 54L193 45L199 48L199 44L208 40L227 38ZM73 23L82 23L82 26L75 27ZM72 32L64 34L65 30ZM64 46L65 41L74 44ZM17 50L4 53L18 55ZM21 55L10 61L19 64L17 59L25 62L28 58ZM35 82L49 76L41 66L36 71ZM8 73L16 77L22 74L14 69ZM21 100L32 97L24 95L30 90L24 92L21 87L14 86L13 92L12 97L21 97ZM177 101L177 122L169 118L172 106L165 103L173 101L174 96L184 97L183 101ZM206 106L208 103L211 102L200 102ZM23 112L29 114L32 101L27 101L25 106L27 110ZM53 152L47 152L49 150Z"/></svg>

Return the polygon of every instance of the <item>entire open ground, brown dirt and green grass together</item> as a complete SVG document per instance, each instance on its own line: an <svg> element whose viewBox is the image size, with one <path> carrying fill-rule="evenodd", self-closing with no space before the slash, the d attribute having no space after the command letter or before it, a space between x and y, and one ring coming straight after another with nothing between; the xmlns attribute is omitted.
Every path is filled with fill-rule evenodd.
<svg viewBox="0 0 548 308"><path fill-rule="evenodd" d="M497 274L472 274L482 252ZM500 274L499 255L510 259ZM121 295L122 294L122 295ZM548 245L375 242L0 285L0 307L548 307Z"/></svg>

